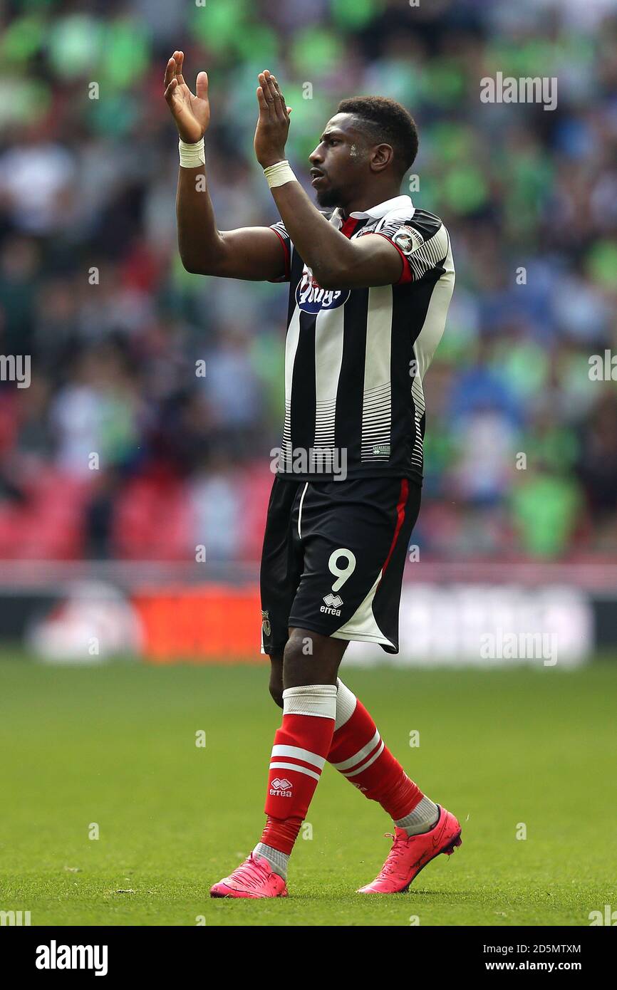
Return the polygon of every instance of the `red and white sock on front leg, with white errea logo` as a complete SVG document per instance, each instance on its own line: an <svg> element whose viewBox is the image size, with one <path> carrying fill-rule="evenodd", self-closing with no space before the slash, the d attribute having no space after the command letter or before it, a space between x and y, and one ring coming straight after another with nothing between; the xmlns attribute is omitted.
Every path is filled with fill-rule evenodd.
<svg viewBox="0 0 617 990"><path fill-rule="evenodd" d="M274 736L267 780L267 821L253 850L283 878L332 745L336 712L336 684L283 691L283 721Z"/></svg>

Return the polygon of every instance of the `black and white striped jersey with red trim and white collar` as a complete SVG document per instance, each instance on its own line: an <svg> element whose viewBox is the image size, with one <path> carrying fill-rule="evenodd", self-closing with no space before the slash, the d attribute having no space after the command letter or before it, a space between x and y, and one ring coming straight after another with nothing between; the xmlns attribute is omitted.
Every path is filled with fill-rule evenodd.
<svg viewBox="0 0 617 990"><path fill-rule="evenodd" d="M352 239L379 234L403 256L394 285L321 288L290 242L285 422L277 473L298 480L422 480L422 382L444 332L455 284L448 231L439 217L397 196L343 222ZM282 280L282 279L281 279Z"/></svg>

